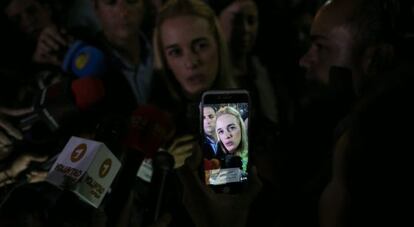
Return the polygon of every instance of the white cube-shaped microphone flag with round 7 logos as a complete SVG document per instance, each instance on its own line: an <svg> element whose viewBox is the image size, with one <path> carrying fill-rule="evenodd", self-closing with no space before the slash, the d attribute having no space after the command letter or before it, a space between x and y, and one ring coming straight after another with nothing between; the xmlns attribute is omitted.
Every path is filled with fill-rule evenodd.
<svg viewBox="0 0 414 227"><path fill-rule="evenodd" d="M46 180L98 208L120 168L105 144L72 136Z"/></svg>

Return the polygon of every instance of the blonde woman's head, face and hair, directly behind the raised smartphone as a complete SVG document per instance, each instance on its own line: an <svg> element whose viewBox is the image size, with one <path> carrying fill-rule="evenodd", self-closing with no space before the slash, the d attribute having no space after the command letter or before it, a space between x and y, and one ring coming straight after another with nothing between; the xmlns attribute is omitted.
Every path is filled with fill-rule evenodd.
<svg viewBox="0 0 414 227"><path fill-rule="evenodd" d="M158 14L153 45L155 69L176 101L235 87L226 41L203 1L168 1Z"/></svg>

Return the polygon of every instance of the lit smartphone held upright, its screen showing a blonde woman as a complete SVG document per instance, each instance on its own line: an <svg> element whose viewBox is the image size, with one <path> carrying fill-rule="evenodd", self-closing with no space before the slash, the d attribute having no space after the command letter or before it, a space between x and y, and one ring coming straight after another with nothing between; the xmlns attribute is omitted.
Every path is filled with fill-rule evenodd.
<svg viewBox="0 0 414 227"><path fill-rule="evenodd" d="M202 95L203 180L216 192L237 192L248 180L250 106L246 90L212 90Z"/></svg>

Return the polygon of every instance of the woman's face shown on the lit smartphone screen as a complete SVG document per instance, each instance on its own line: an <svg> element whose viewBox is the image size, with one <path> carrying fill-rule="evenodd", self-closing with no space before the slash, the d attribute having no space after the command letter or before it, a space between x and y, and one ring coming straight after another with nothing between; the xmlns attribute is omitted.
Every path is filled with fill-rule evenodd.
<svg viewBox="0 0 414 227"><path fill-rule="evenodd" d="M241 141L241 128L237 118L231 114L223 114L217 118L216 131L220 141L229 153L239 147Z"/></svg>

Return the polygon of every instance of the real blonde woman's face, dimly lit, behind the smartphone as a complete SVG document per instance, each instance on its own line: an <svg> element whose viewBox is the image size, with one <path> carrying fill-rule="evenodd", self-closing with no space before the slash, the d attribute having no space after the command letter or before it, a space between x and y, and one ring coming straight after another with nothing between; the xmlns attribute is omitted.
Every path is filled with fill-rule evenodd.
<svg viewBox="0 0 414 227"><path fill-rule="evenodd" d="M217 42L206 19L178 16L160 27L162 51L169 69L190 96L201 94L218 74Z"/></svg>

